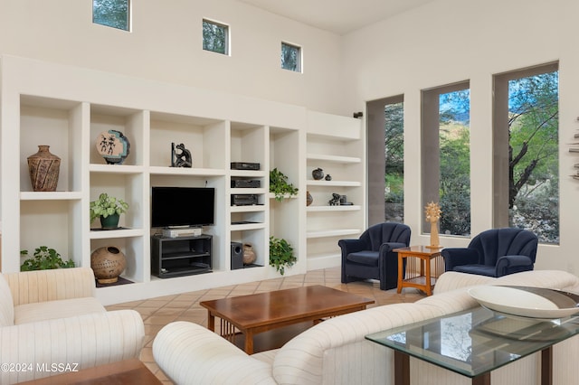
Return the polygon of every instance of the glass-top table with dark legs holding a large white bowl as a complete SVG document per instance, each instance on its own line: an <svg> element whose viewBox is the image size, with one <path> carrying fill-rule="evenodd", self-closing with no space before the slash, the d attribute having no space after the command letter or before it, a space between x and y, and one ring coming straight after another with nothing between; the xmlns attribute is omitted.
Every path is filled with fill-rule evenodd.
<svg viewBox="0 0 579 385"><path fill-rule="evenodd" d="M550 384L552 346L577 333L577 316L537 320L475 307L365 338L394 349L396 384L410 384L410 356L489 384L490 371L535 352L542 352L541 383Z"/></svg>

